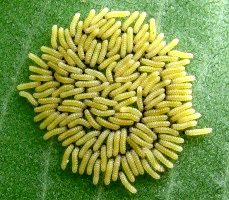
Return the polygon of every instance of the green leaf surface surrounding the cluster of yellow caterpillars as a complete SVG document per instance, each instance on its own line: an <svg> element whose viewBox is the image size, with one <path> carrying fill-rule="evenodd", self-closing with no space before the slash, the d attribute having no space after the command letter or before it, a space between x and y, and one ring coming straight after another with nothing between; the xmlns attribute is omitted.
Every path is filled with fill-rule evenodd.
<svg viewBox="0 0 229 200"><path fill-rule="evenodd" d="M194 108L198 127L208 136L185 137L173 170L160 180L137 177L136 195L120 182L105 187L92 177L60 169L64 149L33 122L33 107L16 86L28 81L29 52L50 44L53 24L67 27L75 12L103 7L146 11L166 40L179 38L178 49L192 52L188 72L196 75ZM0 2L0 199L229 199L229 4L226 0L161 1L15 1Z"/></svg>

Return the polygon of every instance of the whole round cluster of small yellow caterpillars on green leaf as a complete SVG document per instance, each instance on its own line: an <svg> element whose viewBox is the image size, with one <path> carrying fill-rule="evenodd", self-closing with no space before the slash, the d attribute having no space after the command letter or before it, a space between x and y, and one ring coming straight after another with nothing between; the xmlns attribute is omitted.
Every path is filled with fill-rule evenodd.
<svg viewBox="0 0 229 200"><path fill-rule="evenodd" d="M145 18L104 8L81 21L76 13L69 29L52 27L41 57L29 54L36 63L31 82L17 87L47 129L44 140L57 136L66 148L63 170L71 163L73 173L93 175L95 185L105 173L105 185L120 179L132 193L136 176L159 179L173 168L183 150L179 131L212 131L190 129L201 117L191 103L195 77L185 70L193 55L173 50L179 40L166 44L155 20Z"/></svg>

